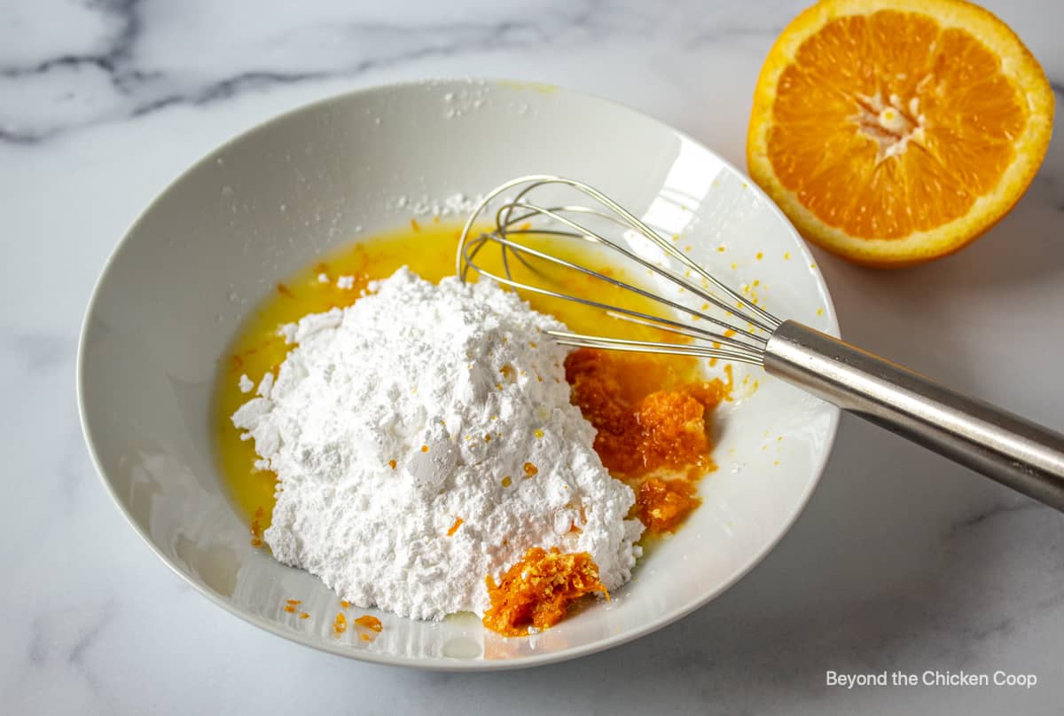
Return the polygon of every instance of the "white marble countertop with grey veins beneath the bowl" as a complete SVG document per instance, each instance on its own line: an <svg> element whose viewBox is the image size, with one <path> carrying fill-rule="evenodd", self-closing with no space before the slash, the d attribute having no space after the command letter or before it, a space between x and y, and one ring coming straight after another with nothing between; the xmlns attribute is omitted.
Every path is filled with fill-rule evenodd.
<svg viewBox="0 0 1064 716"><path fill-rule="evenodd" d="M346 90L486 75L564 84L742 165L749 97L803 4L99 0L0 5L0 519L5 713L1059 713L1064 517L845 419L808 509L681 622L565 665L481 676L349 662L195 593L99 484L74 347L107 254L183 168ZM1064 4L992 10L1064 101ZM633 167L634 169L635 167ZM955 258L870 273L820 256L844 335L1064 426L1064 142ZM825 671L997 669L1017 688L858 688Z"/></svg>

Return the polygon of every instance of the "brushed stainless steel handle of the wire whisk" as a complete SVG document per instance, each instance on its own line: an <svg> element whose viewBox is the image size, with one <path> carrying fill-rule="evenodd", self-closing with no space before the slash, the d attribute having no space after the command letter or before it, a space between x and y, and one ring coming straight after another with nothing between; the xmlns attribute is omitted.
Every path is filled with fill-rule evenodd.
<svg viewBox="0 0 1064 716"><path fill-rule="evenodd" d="M794 321L769 339L765 370L1064 511L1060 433Z"/></svg>

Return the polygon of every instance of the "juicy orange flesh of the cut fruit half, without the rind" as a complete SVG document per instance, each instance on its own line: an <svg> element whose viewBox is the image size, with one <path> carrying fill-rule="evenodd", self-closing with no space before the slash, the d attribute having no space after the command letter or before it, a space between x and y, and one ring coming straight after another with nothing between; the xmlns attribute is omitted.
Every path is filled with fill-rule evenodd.
<svg viewBox="0 0 1064 716"><path fill-rule="evenodd" d="M780 76L767 154L829 226L900 239L967 214L1028 121L1001 61L918 13L828 22Z"/></svg>

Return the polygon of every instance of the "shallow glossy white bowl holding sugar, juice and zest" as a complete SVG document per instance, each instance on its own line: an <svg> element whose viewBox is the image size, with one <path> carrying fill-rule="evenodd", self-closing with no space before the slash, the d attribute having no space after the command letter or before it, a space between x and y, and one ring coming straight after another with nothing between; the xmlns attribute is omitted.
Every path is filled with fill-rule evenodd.
<svg viewBox="0 0 1064 716"><path fill-rule="evenodd" d="M838 412L757 369L725 409L702 506L611 602L539 635L505 639L472 617L422 622L370 609L384 622L379 638L337 638L336 596L250 546L219 482L210 421L216 365L240 321L279 279L406 223L423 198L475 196L539 173L603 190L682 233L727 281L759 279L777 314L837 335L824 280L783 215L739 172L659 121L514 82L401 84L312 104L174 181L118 244L88 306L78 365L85 436L115 502L164 563L232 614L300 644L386 664L494 669L647 634L767 554L815 487ZM285 613L286 599L301 599L313 618Z"/></svg>

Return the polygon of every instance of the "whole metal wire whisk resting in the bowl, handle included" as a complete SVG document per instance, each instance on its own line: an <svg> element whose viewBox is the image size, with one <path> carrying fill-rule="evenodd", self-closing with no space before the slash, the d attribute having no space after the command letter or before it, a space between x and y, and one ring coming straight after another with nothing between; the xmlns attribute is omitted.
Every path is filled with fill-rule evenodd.
<svg viewBox="0 0 1064 716"><path fill-rule="evenodd" d="M541 200L572 194L579 204ZM512 198L511 198L512 197ZM494 228L477 231L494 208ZM651 272L650 290L532 244L534 237L588 242ZM478 257L501 254L501 270ZM662 259L665 259L663 261ZM839 408L922 444L1003 485L1064 511L1064 435L967 397L901 365L796 321L778 319L693 261L675 242L601 192L572 179L536 175L492 190L465 225L459 276L476 272L515 289L576 302L613 319L682 336L649 341L552 331L564 345L719 358L762 367ZM666 265L669 264L669 265ZM679 268L672 267L676 266ZM521 267L522 280L515 278ZM545 271L548 268L549 271ZM551 272L575 272L642 298L636 308L560 290ZM681 273L682 272L682 273ZM527 277L527 278L526 278ZM694 297L701 308L681 296ZM653 308L645 308L652 306ZM715 307L716 310L706 308Z"/></svg>

